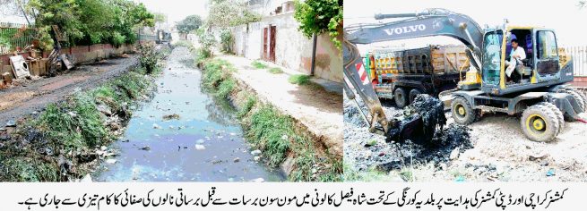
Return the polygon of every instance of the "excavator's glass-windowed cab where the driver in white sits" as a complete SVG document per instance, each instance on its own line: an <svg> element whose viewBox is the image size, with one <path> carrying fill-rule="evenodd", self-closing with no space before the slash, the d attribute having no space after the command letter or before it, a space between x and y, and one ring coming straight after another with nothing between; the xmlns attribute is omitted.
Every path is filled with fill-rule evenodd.
<svg viewBox="0 0 587 211"><path fill-rule="evenodd" d="M512 40L523 49L524 59L512 58ZM481 89L496 96L573 80L570 63L559 61L554 30L517 26L486 30L482 56ZM508 69L508 64L513 66Z"/></svg>

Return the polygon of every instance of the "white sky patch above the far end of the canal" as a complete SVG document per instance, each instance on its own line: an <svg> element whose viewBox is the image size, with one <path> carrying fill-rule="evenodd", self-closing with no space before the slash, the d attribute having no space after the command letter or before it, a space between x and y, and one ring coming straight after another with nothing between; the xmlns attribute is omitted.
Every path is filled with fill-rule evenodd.
<svg viewBox="0 0 587 211"><path fill-rule="evenodd" d="M168 15L168 23L174 24L184 20L186 16L197 14L205 18L208 15L206 4L208 0L136 0L145 4L147 9L154 13Z"/></svg>

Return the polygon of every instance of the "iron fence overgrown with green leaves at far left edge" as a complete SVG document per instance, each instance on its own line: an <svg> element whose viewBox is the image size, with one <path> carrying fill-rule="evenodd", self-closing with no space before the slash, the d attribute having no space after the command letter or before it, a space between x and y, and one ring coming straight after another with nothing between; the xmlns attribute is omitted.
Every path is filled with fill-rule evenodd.
<svg viewBox="0 0 587 211"><path fill-rule="evenodd" d="M37 30L27 24L0 22L0 55L32 45Z"/></svg>

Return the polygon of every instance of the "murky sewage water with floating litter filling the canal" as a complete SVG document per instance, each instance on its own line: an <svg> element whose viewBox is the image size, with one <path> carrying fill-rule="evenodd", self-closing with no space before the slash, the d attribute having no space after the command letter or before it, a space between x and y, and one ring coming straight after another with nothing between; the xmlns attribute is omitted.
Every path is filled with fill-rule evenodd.
<svg viewBox="0 0 587 211"><path fill-rule="evenodd" d="M95 181L283 181L278 169L255 161L226 100L202 88L194 56L177 47L157 80L157 92L108 148L116 162L102 162ZM177 114L178 119L164 120ZM113 161L113 160L110 160Z"/></svg>

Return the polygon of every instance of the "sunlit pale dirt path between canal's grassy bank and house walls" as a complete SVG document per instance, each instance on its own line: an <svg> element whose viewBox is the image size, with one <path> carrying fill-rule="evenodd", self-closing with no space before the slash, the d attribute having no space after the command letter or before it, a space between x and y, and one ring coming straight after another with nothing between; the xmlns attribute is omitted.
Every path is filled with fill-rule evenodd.
<svg viewBox="0 0 587 211"><path fill-rule="evenodd" d="M233 74L255 90L258 97L298 120L307 130L324 142L332 155L342 155L342 95L312 86L288 82L289 72L271 74L251 66L243 57L222 55L237 68Z"/></svg>

